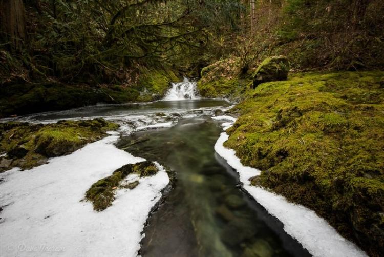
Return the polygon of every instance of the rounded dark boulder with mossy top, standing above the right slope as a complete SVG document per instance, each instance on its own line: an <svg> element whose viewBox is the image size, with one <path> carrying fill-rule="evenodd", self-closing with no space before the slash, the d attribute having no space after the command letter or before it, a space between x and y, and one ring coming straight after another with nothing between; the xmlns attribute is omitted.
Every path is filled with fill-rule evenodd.
<svg viewBox="0 0 384 257"><path fill-rule="evenodd" d="M252 76L253 88L265 82L287 80L289 69L290 64L286 56L266 58Z"/></svg>

